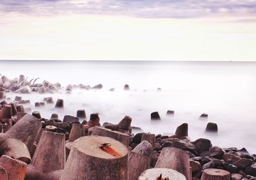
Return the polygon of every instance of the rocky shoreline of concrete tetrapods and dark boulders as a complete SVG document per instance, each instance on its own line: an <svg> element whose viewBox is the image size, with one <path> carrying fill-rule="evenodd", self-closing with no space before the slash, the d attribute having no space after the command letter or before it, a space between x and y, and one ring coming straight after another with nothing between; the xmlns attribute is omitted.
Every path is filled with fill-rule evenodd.
<svg viewBox="0 0 256 180"><path fill-rule="evenodd" d="M24 75L12 80L5 76L1 77L0 179L90 177L132 180L147 179L148 174L151 179L256 179L256 154L249 154L245 148L212 146L209 139L191 141L187 123L178 126L174 135L168 136L132 134L135 127L131 126L131 117L125 116L118 124L104 123L100 122L97 113L90 114L87 119L83 109L77 110L76 117L66 115L63 119L59 119L58 114L52 114L51 118L47 119L41 117L38 111L30 115L31 110L23 106L30 101L22 100L20 95L12 100L8 93L56 93L62 88L60 83L44 81L42 84L35 84L36 80L28 81ZM73 88L101 89L102 85L68 85L65 92L72 93ZM125 84L124 90L129 89L129 85ZM115 91L115 88L109 91ZM161 89L158 88L157 91ZM54 104L53 98L44 98L43 101L36 102L35 107L43 107L45 104ZM55 102L56 109L64 106L63 100ZM168 110L166 114L173 115L174 111ZM202 114L200 118L207 116ZM161 117L158 112L152 112L151 119L157 121ZM218 126L215 123L208 123L205 131L216 133ZM95 136L99 139L95 139ZM102 143L98 148L100 151L86 150L95 146L93 142L104 142L104 137L109 137L110 139L106 140L111 143ZM83 147L81 144L84 142L86 143ZM104 154L106 152L111 156ZM99 156L100 160L97 158ZM79 161L80 159L87 163ZM87 169L76 166L77 161L84 163ZM92 163L92 167L87 167L88 163ZM102 170L101 163L106 170ZM106 167L111 167L112 170ZM14 170L11 172L10 169ZM113 169L116 172L113 172Z"/></svg>

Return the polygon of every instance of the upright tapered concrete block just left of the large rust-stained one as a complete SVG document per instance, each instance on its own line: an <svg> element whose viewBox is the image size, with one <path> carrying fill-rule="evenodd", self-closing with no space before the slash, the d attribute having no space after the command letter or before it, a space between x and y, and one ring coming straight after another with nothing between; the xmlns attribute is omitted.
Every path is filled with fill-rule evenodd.
<svg viewBox="0 0 256 180"><path fill-rule="evenodd" d="M63 169L65 161L65 135L43 131L31 164L41 172L47 173Z"/></svg>

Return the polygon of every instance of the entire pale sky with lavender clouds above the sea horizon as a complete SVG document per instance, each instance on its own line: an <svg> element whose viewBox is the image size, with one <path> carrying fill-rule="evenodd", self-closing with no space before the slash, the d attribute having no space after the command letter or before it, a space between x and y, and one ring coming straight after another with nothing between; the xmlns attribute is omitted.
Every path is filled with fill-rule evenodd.
<svg viewBox="0 0 256 180"><path fill-rule="evenodd" d="M1 0L0 59L255 61L256 0Z"/></svg>

